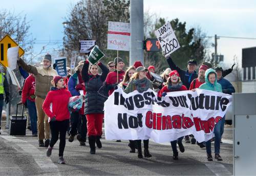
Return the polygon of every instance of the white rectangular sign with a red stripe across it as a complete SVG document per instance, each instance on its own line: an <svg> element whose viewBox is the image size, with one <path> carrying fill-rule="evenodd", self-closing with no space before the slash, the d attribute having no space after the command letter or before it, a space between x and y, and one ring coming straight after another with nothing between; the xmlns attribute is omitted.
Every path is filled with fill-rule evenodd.
<svg viewBox="0 0 256 176"><path fill-rule="evenodd" d="M109 21L108 49L118 51L130 50L131 26L127 22Z"/></svg>

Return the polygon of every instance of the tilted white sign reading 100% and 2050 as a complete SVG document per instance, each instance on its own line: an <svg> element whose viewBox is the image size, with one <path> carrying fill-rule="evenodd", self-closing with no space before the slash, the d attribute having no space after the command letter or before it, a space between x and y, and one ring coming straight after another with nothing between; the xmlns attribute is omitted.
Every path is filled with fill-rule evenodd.
<svg viewBox="0 0 256 176"><path fill-rule="evenodd" d="M165 57L169 56L170 54L172 54L180 48L180 44L169 22L167 22L166 24L164 24L164 26L156 30L155 35L157 36L157 39L162 47L162 50L165 52Z"/></svg>

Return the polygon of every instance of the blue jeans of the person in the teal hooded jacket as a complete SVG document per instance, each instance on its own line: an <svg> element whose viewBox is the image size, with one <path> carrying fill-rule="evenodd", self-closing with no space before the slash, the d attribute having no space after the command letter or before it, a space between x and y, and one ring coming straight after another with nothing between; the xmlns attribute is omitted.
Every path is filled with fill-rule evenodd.
<svg viewBox="0 0 256 176"><path fill-rule="evenodd" d="M225 123L225 118L222 118L216 125L214 128L214 135L215 135L215 140L214 140L214 149L215 149L215 154L220 154L220 146L221 146L221 127L222 127L222 123ZM224 123L223 123L223 129L224 129ZM208 140L206 142L206 153L209 155L211 154L211 142L210 140Z"/></svg>

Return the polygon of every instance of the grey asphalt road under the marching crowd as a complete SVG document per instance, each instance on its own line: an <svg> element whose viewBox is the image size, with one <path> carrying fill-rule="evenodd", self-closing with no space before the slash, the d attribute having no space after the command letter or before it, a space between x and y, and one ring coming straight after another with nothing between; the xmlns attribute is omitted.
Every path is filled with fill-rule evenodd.
<svg viewBox="0 0 256 176"><path fill-rule="evenodd" d="M38 147L37 137L32 137L30 131L26 136L16 137L3 131L0 135L0 175L232 175L232 128L225 128L222 162L215 159L208 162L205 148L185 143L185 152L179 153L179 160L174 161L169 143L152 141L153 157L138 159L137 153L129 153L128 141L108 141L103 136L103 147L96 149L96 155L89 153L88 142L87 146L79 146L76 139L72 143L67 140L66 164L58 164L58 142L49 158L46 148Z"/></svg>

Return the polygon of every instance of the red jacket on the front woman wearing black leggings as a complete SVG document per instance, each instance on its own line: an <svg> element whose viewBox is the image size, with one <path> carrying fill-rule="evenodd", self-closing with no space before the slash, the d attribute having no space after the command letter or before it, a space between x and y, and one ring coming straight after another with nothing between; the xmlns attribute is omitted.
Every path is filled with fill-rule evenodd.
<svg viewBox="0 0 256 176"><path fill-rule="evenodd" d="M71 93L66 89L57 89L56 87L51 88L46 96L44 104L42 104L42 109L51 119L53 116L56 116L57 121L70 119L68 109L70 97Z"/></svg>

